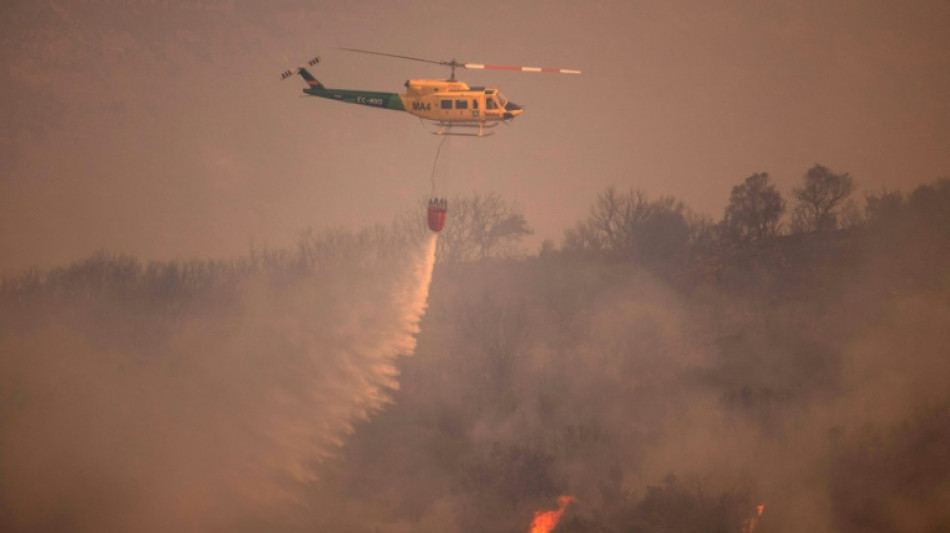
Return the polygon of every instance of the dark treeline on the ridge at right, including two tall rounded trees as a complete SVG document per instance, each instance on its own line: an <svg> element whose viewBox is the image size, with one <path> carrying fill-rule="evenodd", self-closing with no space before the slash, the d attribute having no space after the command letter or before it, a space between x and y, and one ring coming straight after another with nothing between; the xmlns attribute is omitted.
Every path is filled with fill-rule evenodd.
<svg viewBox="0 0 950 533"><path fill-rule="evenodd" d="M756 173L733 187L723 218L713 222L672 197L650 200L642 191L608 188L565 232L559 251L633 262L682 286L736 290L763 290L750 276L761 281L773 273L776 283L801 288L816 269L855 266L844 259L857 260L861 247L912 245L946 258L950 179L910 194L870 193L863 212L854 189L849 174L815 165L789 205L767 173Z"/></svg>

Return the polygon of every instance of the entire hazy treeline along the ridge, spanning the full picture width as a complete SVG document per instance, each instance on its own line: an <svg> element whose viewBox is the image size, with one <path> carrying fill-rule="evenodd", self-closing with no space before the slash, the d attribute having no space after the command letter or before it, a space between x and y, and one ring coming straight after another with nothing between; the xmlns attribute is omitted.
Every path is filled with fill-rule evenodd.
<svg viewBox="0 0 950 533"><path fill-rule="evenodd" d="M729 270L749 261L787 263L792 259L774 257L776 247L787 247L794 254L804 246L810 252L807 243L819 240L834 248L830 242L855 236L879 243L926 238L935 248L945 248L941 239L946 239L950 226L950 179L922 185L910 194L870 193L863 212L852 198L854 188L848 173L815 165L793 189L794 204L789 208L768 174L756 173L733 187L723 218L714 222L673 197L650 199L640 190L608 187L596 196L588 216L565 231L560 245L545 241L539 253L630 262L669 279L697 283L722 281ZM66 267L7 277L0 290L10 296L37 291L91 296L103 289L161 307L162 299L181 303L181 297L188 295L227 292L227 287L251 276L309 276L321 265L354 254L371 254L372 260L392 257L425 235L418 218L413 210L389 226L356 233L307 230L294 249L252 249L246 256L227 260L143 265L134 257L98 252ZM524 258L530 254L520 243L531 234L517 204L498 194L457 197L451 202L450 223L440 235L439 260Z"/></svg>

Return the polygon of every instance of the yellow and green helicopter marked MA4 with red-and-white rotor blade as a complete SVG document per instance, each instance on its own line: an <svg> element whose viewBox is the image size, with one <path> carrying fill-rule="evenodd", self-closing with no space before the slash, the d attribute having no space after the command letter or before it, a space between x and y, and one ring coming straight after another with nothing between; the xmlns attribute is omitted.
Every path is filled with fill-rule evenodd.
<svg viewBox="0 0 950 533"><path fill-rule="evenodd" d="M435 135L468 135L483 137L494 133L494 127L500 122L510 123L524 112L524 107L508 100L495 87L469 87L463 81L455 79L455 69L479 70L508 70L520 72L550 72L558 74L580 74L581 71L562 68L546 67L515 67L506 65L485 65L481 63L462 63L456 60L435 61L418 57L372 52L356 48L340 48L347 52L373 54L451 68L451 76L447 80L441 79L410 79L404 86L404 94L361 91L353 89L331 89L311 74L306 66L314 66L320 62L319 57L307 61L306 66L287 70L281 74L281 79L287 79L299 74L307 82L308 87L303 90L307 96L329 98L349 104L360 104L381 109L405 111L419 117L421 121L435 126L431 133ZM462 131L455 130L459 128Z"/></svg>

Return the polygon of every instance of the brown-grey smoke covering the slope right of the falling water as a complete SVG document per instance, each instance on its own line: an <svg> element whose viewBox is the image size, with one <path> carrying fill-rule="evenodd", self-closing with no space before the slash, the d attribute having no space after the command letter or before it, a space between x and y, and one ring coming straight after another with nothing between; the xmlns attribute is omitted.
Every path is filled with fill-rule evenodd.
<svg viewBox="0 0 950 533"><path fill-rule="evenodd" d="M559 494L565 531L939 530L946 286L868 255L782 298L598 259L447 267L399 402L347 446L337 486L379 502L352 530L528 531Z"/></svg>

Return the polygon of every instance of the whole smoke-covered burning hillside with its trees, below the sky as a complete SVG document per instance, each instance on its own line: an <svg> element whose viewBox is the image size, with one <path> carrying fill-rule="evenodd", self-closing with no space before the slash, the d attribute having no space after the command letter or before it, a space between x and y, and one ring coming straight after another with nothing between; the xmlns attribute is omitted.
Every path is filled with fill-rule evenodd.
<svg viewBox="0 0 950 533"><path fill-rule="evenodd" d="M853 188L756 174L716 223L608 189L537 255L487 195L438 250L413 213L8 278L0 529L940 531L950 180Z"/></svg>

